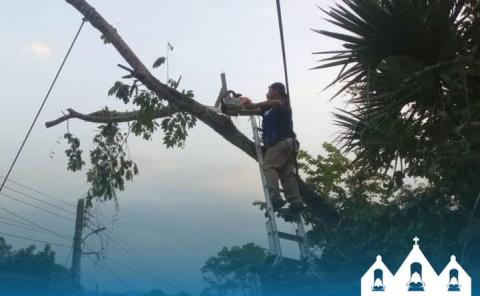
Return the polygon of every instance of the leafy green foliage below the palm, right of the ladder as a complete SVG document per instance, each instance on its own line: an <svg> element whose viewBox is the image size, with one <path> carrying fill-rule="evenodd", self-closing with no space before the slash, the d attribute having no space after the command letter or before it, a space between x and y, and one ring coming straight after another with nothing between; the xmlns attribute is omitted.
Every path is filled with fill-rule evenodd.
<svg viewBox="0 0 480 296"><path fill-rule="evenodd" d="M314 158L303 152L300 166L316 190L337 196L336 207L342 216L342 223L333 229L310 218L310 242L322 251L313 261L313 269L318 281L327 283L321 287L326 295L358 291L358 279L377 254L396 270L410 251L414 236L422 239L422 250L437 271L455 253L471 275L479 274L475 250L480 236L475 233L468 238L465 247L470 215L459 207L458 199L445 196L428 183L413 187L378 174L364 175L358 163L329 144L324 147L326 156ZM478 227L478 222L473 224ZM344 291L335 291L328 284L338 283L338 279L343 279Z"/></svg>

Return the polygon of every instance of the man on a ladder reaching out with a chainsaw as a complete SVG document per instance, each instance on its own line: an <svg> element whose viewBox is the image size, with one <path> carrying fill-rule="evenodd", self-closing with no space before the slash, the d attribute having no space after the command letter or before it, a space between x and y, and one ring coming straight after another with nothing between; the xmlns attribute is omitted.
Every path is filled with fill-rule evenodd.
<svg viewBox="0 0 480 296"><path fill-rule="evenodd" d="M274 210L286 204L280 195L280 180L290 210L299 212L303 207L295 171L299 144L293 131L292 108L285 86L280 82L270 85L264 102L252 103L248 98L241 101L246 109L257 110L262 115L263 170Z"/></svg>

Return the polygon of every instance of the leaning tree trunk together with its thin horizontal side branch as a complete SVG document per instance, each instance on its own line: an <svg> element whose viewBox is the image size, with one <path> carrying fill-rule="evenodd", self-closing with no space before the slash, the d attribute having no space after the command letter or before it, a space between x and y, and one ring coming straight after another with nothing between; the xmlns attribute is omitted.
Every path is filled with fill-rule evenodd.
<svg viewBox="0 0 480 296"><path fill-rule="evenodd" d="M177 111L189 113L212 128L228 142L232 143L234 146L238 147L256 160L255 144L236 128L230 117L218 114L207 106L160 82L140 61L137 55L118 34L117 30L85 0L66 0L66 2L75 7L75 9L77 9L85 19L92 24L92 26L103 34L103 37L106 40L112 43L118 53L132 68L132 76L142 82L145 87L154 92L159 98L162 98L169 103L170 109L158 112L154 115L156 118L169 116ZM68 109L68 112L67 115L48 122L46 124L47 127L55 126L69 118L78 118L88 122L108 123L133 121L136 119L137 115L135 111L97 111L88 115L81 114L73 109ZM312 213L321 217L321 219L328 225L337 223L338 215L329 204L328 197L318 196L318 194L316 194L312 188L307 186L302 180L300 180L299 183L302 196L305 198Z"/></svg>

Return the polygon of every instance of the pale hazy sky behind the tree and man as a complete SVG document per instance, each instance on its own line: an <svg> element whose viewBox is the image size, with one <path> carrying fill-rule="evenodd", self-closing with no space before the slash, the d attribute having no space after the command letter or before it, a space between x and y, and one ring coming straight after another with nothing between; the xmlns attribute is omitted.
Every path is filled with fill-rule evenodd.
<svg viewBox="0 0 480 296"><path fill-rule="evenodd" d="M182 75L180 88L193 90L203 104L215 102L221 72L226 73L229 88L255 101L265 99L269 84L283 80L273 0L89 3L117 28L146 65L164 56L170 42L174 46L170 76ZM338 69L310 70L318 65L319 56L313 52L341 46L311 30L338 31L318 8L328 9L334 3L282 1L295 130L302 148L311 154L322 153L322 143L334 140L338 128L332 122L332 112L343 107L341 99L329 101L335 87L323 90ZM80 14L65 1L2 1L0 175L6 174L80 22ZM113 83L125 75L118 63L125 62L87 23L11 175L12 180L49 196L14 183L7 183L9 188L3 192L10 198L0 196L1 207L67 237L2 224L18 218L1 211L0 232L71 244L74 206L88 184L85 171L66 170L63 151L67 146L62 139L66 124L47 129L44 123L61 116L66 108L85 113L104 106L131 108L107 96ZM165 67L153 73L161 80L166 78ZM247 118L235 118L234 122L251 136ZM68 128L79 136L88 158L96 126L71 120ZM140 175L118 194L118 205L108 203L93 212L97 222L107 226L109 237L128 245L124 248L141 261L143 273L118 246L107 244L102 264L117 275L116 279L95 265L93 256L86 255L82 282L87 288L98 284L101 291L162 288L167 292L198 292L203 287L200 268L223 246L254 242L267 247L263 214L252 206L253 201L263 198L257 164L202 123L190 131L184 149L166 149L161 138L158 133L151 141L130 139L129 153ZM57 216L22 204L18 200L49 208L22 193L53 203L60 208L54 211ZM14 248L30 244L12 237L8 242ZM89 250L97 251L100 240L92 235L86 244ZM69 266L70 250L54 249L58 262ZM291 246L286 250L295 255Z"/></svg>

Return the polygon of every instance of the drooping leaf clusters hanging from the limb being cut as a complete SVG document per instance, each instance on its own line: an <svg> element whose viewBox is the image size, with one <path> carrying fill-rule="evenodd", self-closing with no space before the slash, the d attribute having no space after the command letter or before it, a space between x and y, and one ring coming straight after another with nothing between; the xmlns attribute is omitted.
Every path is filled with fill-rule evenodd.
<svg viewBox="0 0 480 296"><path fill-rule="evenodd" d="M164 61L164 58L159 58L154 63L154 68L159 67ZM138 116L136 120L128 124L126 132L122 132L119 124L113 123L114 120L98 127L98 133L93 139L94 148L90 152L90 167L87 171L87 181L90 183L87 192L87 207L92 206L94 199L116 200L116 192L124 190L125 183L132 181L133 177L138 174L137 165L125 152L128 149L127 140L130 134L144 140L151 140L160 127L163 132L163 144L167 148L183 148L188 131L197 122L193 115L175 111L168 101L146 89L133 78L133 75L127 75L124 78L130 83L116 81L108 90L108 95L126 105L133 105L138 111ZM168 81L172 89L176 89L179 83L180 80ZM190 90L183 90L182 93L190 98L194 96ZM110 112L108 108L105 108L103 112L113 114L113 116L116 114ZM167 113L168 116L164 116L159 124L156 118L157 114L163 114L162 112ZM68 159L67 168L74 172L80 171L85 165L82 159L80 140L70 132L64 137L69 145L69 148L65 150Z"/></svg>

